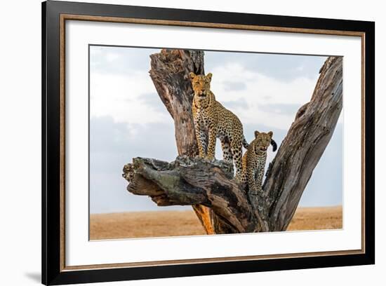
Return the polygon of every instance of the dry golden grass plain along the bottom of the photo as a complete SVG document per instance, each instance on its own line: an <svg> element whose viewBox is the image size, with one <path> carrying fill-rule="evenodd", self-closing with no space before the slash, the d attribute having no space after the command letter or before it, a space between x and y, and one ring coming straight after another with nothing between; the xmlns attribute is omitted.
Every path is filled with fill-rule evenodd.
<svg viewBox="0 0 386 286"><path fill-rule="evenodd" d="M299 207L288 231L341 229L342 206ZM204 235L193 210L91 214L90 239Z"/></svg>

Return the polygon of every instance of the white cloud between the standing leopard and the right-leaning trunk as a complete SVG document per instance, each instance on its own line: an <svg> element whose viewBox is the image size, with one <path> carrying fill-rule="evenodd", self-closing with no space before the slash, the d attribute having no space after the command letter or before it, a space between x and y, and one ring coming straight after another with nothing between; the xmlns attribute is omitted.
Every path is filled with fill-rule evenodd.
<svg viewBox="0 0 386 286"><path fill-rule="evenodd" d="M229 72L232 71L232 72ZM239 63L227 63L215 67L213 71L211 89L216 100L227 107L227 102L246 101L232 107L242 123L265 123L273 128L287 130L295 114L280 114L277 111L264 109L266 104L302 104L310 101L317 76L314 79L299 76L292 81L279 81L277 79L259 74L246 69ZM229 90L227 83L243 82L242 90ZM234 104L232 104L234 105Z"/></svg>

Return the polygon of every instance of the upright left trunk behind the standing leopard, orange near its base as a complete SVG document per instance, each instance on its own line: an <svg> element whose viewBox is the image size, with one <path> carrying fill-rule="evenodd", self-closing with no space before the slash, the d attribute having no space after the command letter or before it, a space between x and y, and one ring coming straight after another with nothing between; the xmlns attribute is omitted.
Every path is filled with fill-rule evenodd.
<svg viewBox="0 0 386 286"><path fill-rule="evenodd" d="M180 156L199 154L192 116L193 89L189 72L204 74L204 52L193 50L161 50L150 55L149 74L166 109L174 119L175 142ZM211 210L192 205L206 233L213 234Z"/></svg>

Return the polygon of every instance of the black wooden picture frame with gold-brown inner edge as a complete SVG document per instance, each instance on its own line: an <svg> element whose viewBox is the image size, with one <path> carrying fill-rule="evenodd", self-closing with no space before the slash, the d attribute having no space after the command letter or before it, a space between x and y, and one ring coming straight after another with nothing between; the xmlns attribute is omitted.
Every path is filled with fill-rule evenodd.
<svg viewBox="0 0 386 286"><path fill-rule="evenodd" d="M81 20L361 37L361 249L67 266L65 258L65 22ZM42 282L171 278L375 263L375 23L171 8L42 4ZM350 83L348 83L350 84ZM366 174L366 175L365 175Z"/></svg>

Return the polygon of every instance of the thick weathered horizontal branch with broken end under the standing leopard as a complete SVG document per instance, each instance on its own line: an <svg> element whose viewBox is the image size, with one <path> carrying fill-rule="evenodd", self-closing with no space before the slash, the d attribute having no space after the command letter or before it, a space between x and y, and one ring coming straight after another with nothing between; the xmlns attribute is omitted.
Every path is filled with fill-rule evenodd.
<svg viewBox="0 0 386 286"><path fill-rule="evenodd" d="M150 196L159 206L205 205L232 227L232 232L253 232L256 222L244 190L223 161L178 157L172 163L134 158L135 175L128 191ZM149 182L147 184L146 182Z"/></svg>

